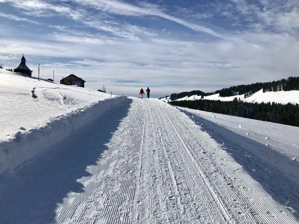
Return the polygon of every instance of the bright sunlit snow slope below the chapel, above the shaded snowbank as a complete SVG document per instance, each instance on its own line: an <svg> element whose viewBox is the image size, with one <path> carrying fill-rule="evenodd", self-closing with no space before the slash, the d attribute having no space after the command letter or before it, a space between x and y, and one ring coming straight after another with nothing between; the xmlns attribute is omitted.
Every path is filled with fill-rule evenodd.
<svg viewBox="0 0 299 224"><path fill-rule="evenodd" d="M38 81L4 69L0 69L0 79L0 140L43 125L51 117L110 98L107 93L45 79Z"/></svg>

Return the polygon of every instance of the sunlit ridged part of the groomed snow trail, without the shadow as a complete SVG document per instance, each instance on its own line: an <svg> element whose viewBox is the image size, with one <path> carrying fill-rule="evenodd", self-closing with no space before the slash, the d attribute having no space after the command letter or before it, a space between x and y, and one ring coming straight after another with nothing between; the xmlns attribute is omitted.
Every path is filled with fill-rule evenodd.
<svg viewBox="0 0 299 224"><path fill-rule="evenodd" d="M77 179L83 190L57 204L54 223L298 223L208 133L164 102L133 98L107 140L86 167L90 175ZM32 223L49 223L44 213Z"/></svg>

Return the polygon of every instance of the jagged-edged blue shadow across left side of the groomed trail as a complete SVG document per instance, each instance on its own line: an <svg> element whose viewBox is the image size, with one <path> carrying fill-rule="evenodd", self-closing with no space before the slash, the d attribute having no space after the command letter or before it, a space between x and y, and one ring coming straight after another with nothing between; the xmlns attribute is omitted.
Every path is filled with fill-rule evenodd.
<svg viewBox="0 0 299 224"><path fill-rule="evenodd" d="M0 223L55 223L58 203L71 192L81 193L77 179L90 176L130 107L131 99L73 133L16 175L0 179Z"/></svg>

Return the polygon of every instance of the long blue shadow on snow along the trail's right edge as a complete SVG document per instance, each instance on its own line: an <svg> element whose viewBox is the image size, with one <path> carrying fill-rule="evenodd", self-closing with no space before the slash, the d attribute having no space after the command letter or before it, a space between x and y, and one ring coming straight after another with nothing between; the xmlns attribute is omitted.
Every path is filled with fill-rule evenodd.
<svg viewBox="0 0 299 224"><path fill-rule="evenodd" d="M299 211L298 162L292 161L269 146L236 134L200 116L193 116L193 113L181 111L196 124L202 123L202 130L207 131L217 143L225 142L223 149L276 201L291 207L288 208L290 211L292 208ZM293 214L299 218L298 212Z"/></svg>

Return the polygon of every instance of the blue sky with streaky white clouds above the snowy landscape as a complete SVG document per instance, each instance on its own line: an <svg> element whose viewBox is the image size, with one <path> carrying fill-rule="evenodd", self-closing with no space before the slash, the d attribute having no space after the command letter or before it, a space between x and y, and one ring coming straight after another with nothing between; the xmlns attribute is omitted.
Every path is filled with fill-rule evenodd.
<svg viewBox="0 0 299 224"><path fill-rule="evenodd" d="M0 64L138 96L299 75L299 1L0 0Z"/></svg>

